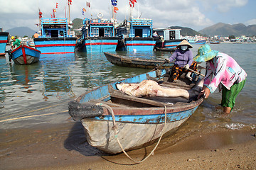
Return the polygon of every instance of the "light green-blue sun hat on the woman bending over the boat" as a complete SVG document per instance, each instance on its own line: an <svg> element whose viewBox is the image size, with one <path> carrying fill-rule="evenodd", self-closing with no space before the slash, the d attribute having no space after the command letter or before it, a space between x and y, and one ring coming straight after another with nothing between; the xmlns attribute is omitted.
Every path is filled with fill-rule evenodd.
<svg viewBox="0 0 256 170"><path fill-rule="evenodd" d="M198 48L198 54L193 57L196 62L207 62L218 55L218 51L211 50L209 45L202 45Z"/></svg>

